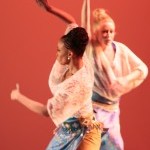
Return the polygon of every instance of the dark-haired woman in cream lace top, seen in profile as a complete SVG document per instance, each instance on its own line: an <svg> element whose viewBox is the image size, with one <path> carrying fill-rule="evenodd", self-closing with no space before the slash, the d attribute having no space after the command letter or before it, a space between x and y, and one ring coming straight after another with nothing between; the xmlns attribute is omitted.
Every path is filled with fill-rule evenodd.
<svg viewBox="0 0 150 150"><path fill-rule="evenodd" d="M93 115L93 72L83 56L87 43L87 32L81 27L60 38L57 60L49 77L53 97L47 105L24 96L18 86L11 92L12 100L33 112L50 116L57 126L47 150L99 150L102 124ZM87 134L90 138L84 138L81 143Z"/></svg>

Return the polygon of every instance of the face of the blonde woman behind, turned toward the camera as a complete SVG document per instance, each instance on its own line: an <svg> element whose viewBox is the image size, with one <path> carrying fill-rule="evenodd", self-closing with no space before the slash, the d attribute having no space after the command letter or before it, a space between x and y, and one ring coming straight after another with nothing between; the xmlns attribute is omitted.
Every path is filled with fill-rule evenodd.
<svg viewBox="0 0 150 150"><path fill-rule="evenodd" d="M115 25L111 21L104 21L101 23L99 30L97 30L97 39L101 44L111 44L115 37Z"/></svg>

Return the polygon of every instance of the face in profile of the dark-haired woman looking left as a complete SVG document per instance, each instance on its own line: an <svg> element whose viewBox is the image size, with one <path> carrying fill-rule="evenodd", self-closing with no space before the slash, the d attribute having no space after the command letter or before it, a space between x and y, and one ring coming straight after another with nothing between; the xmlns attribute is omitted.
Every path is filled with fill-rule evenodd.
<svg viewBox="0 0 150 150"><path fill-rule="evenodd" d="M69 63L68 50L65 48L62 41L59 41L57 45L57 60L61 65L66 65Z"/></svg>

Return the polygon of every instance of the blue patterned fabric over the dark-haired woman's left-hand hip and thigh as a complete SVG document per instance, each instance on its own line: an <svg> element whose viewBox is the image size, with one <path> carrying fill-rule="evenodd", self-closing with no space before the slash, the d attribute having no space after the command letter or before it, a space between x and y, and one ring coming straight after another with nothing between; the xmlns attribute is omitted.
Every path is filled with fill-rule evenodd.
<svg viewBox="0 0 150 150"><path fill-rule="evenodd" d="M85 133L76 118L62 124L46 150L76 150Z"/></svg>

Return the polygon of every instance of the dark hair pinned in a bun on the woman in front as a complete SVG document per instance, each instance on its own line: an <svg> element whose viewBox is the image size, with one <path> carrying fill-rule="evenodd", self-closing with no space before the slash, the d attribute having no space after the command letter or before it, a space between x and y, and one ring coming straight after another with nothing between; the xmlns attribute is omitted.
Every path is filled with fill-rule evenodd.
<svg viewBox="0 0 150 150"><path fill-rule="evenodd" d="M83 56L85 48L88 44L88 34L82 27L72 29L68 34L61 37L65 48L73 51L77 56Z"/></svg>

